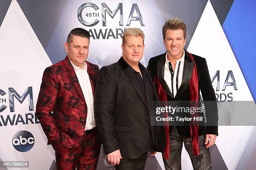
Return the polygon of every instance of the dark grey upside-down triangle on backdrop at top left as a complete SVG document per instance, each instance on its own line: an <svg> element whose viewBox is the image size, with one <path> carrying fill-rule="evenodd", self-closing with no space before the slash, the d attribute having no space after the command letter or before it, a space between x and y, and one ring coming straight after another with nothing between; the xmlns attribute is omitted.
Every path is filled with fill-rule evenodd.
<svg viewBox="0 0 256 170"><path fill-rule="evenodd" d="M67 0L17 0L17 2L46 50Z"/></svg>

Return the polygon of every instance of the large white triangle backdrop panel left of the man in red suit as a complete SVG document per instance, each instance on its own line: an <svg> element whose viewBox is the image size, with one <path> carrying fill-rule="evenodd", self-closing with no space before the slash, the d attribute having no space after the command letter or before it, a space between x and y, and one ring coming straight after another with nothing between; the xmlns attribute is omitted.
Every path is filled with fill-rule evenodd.
<svg viewBox="0 0 256 170"><path fill-rule="evenodd" d="M20 114L26 122L26 113L34 115L36 111L42 74L44 69L51 65L51 60L49 60L16 0L12 0L0 27L0 56L0 89L6 92L6 95L4 95L6 103L4 105L7 106L3 112L0 112L0 115L4 119L6 119L7 115L10 115L12 119L14 115L17 117ZM32 87L33 110L29 110L28 97L26 97L22 104L14 99L15 112L10 112L8 102L9 87L13 87L19 95L22 95L28 87ZM2 120L0 121L2 122ZM35 119L33 119L33 122L35 122ZM8 123L7 126L1 126L0 128L0 136L3 137L1 140L1 146L3 147L0 149L0 158L3 161L31 160L29 168L49 169L54 159L54 152L51 146L46 145L46 136L40 124L32 124L28 121L26 125L23 125L22 122L19 122L17 125L10 125ZM33 148L24 153L15 150L12 142L13 136L20 130L27 130L34 137ZM40 156L35 157L35 155Z"/></svg>

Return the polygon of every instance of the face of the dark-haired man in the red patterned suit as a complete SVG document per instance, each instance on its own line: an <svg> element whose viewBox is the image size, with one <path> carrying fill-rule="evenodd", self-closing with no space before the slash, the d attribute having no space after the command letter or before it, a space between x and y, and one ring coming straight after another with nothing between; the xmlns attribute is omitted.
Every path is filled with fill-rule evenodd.
<svg viewBox="0 0 256 170"><path fill-rule="evenodd" d="M89 53L89 39L86 37L73 36L73 41L68 45L65 43L65 50L69 60L77 67L84 67L84 61Z"/></svg>

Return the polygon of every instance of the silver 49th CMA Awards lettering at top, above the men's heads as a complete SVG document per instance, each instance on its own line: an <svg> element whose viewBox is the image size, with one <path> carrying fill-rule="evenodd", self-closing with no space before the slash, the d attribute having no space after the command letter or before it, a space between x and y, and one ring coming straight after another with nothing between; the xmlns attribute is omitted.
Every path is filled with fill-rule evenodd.
<svg viewBox="0 0 256 170"><path fill-rule="evenodd" d="M93 39L109 39L111 37L113 39L122 38L123 31L125 30L125 28L120 28L120 26L123 26L123 3L118 3L113 10L110 10L106 3L101 3L101 15L97 10L99 10L99 7L96 4L91 2L83 3L77 10L77 18L79 22L86 27L93 27L102 20L102 27L105 27L107 26L107 16L113 19L115 15L118 15L119 28L90 29L89 32L91 37ZM130 26L132 21L134 23L139 22L141 26L145 26L137 3L132 4L129 12L130 14L128 16L126 26ZM113 26L113 23L110 25ZM138 27L138 25L136 25L136 27Z"/></svg>

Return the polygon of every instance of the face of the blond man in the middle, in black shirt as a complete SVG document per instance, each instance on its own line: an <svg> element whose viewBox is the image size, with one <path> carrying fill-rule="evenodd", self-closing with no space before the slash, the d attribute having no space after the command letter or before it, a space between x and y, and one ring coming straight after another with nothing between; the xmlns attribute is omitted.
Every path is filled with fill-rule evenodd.
<svg viewBox="0 0 256 170"><path fill-rule="evenodd" d="M123 58L130 65L137 65L144 51L143 38L141 36L127 36L126 43L122 45Z"/></svg>

